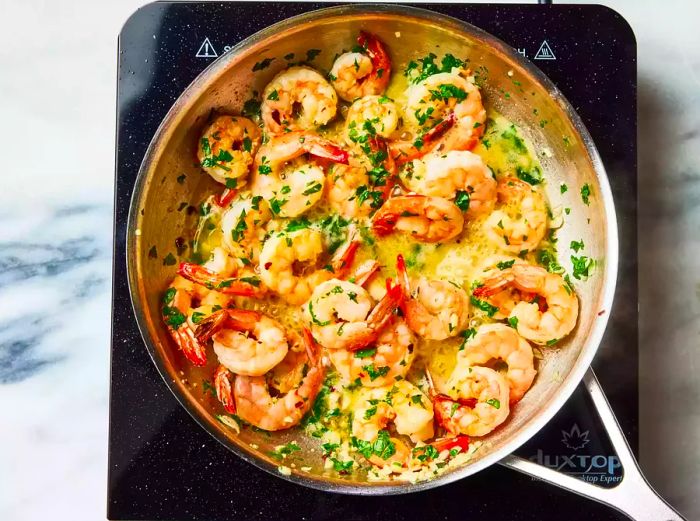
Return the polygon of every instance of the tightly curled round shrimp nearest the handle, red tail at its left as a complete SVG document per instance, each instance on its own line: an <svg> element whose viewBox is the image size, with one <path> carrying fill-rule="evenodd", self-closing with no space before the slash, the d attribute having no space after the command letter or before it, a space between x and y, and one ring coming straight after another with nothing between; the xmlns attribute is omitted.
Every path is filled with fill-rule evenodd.
<svg viewBox="0 0 700 521"><path fill-rule="evenodd" d="M440 390L432 396L435 418L450 434L485 436L508 418L508 381L493 369L458 367Z"/></svg>

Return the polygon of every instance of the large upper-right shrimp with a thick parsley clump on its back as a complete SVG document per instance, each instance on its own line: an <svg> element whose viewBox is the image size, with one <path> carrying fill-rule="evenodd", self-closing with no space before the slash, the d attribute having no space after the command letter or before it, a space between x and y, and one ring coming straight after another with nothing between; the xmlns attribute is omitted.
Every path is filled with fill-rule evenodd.
<svg viewBox="0 0 700 521"><path fill-rule="evenodd" d="M397 161L406 162L430 151L471 150L484 132L486 110L479 88L462 76L467 71L428 76L409 88L406 123L413 141L392 143Z"/></svg>

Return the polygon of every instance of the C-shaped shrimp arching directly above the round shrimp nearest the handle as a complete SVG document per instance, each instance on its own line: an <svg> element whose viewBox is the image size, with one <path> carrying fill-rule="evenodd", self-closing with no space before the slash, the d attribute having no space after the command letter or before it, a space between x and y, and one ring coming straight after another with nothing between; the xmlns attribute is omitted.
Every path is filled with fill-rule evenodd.
<svg viewBox="0 0 700 521"><path fill-rule="evenodd" d="M457 367L468 372L469 367L486 365L492 360L502 360L508 365L510 403L520 401L537 374L530 344L512 327L484 324L457 353Z"/></svg>

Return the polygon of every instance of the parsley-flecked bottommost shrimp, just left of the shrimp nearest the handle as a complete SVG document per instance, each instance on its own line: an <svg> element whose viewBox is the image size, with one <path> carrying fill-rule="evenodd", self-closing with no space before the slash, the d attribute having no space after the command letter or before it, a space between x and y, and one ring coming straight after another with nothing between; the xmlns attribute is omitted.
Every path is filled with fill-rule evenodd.
<svg viewBox="0 0 700 521"><path fill-rule="evenodd" d="M352 434L374 441L389 422L412 441L433 437L433 405L423 391L407 380L384 387L363 387L357 396Z"/></svg>

